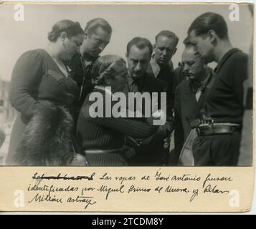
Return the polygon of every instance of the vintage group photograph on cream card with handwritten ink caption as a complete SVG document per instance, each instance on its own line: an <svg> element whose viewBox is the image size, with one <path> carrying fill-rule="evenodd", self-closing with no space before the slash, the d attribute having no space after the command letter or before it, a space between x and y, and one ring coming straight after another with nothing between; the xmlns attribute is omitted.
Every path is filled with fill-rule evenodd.
<svg viewBox="0 0 256 229"><path fill-rule="evenodd" d="M161 195L157 208L111 209L193 210L201 191L205 201L215 194L216 204L237 191L247 202L222 210L250 209L253 13L250 3L4 2L0 180L7 170L22 173L27 181L16 190L29 193L27 210L60 210L56 193L80 193L65 199L73 204L67 210L82 203L103 210L110 193L122 203L131 193L147 201L151 191L152 200ZM67 187L74 180L98 186ZM188 205L163 206L169 193L188 195ZM202 203L194 210L220 210Z"/></svg>

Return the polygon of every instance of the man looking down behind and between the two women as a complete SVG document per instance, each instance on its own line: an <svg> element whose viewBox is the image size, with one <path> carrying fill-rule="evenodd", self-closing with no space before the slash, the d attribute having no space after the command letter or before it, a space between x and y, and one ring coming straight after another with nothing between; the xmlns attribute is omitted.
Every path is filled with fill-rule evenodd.
<svg viewBox="0 0 256 229"><path fill-rule="evenodd" d="M95 60L100 56L110 42L112 28L105 19L92 19L85 26L85 39L80 47L80 54L72 57L69 67L72 78L80 87L80 97L75 105L75 120L87 94L93 91L92 68Z"/></svg>

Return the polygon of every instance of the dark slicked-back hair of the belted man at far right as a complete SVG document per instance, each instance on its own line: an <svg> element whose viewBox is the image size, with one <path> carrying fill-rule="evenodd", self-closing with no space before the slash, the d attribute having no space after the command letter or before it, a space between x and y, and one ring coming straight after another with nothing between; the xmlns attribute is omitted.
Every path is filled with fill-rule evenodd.
<svg viewBox="0 0 256 229"><path fill-rule="evenodd" d="M194 31L196 36L207 34L209 30L214 30L220 39L227 39L227 23L223 16L212 12L198 16L189 26L188 34Z"/></svg>

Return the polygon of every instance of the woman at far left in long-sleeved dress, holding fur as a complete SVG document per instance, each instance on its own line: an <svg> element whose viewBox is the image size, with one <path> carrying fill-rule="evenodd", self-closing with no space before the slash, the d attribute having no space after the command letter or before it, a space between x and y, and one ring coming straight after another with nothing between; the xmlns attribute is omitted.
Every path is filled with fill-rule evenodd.
<svg viewBox="0 0 256 229"><path fill-rule="evenodd" d="M46 49L25 52L11 76L9 99L19 112L11 132L8 165L69 165L72 150L70 109L79 89L64 62L84 39L78 22L58 21Z"/></svg>

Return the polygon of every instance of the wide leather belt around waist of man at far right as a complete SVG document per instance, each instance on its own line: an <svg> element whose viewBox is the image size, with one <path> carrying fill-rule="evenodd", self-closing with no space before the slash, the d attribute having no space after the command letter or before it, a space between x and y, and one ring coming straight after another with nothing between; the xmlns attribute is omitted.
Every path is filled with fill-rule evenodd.
<svg viewBox="0 0 256 229"><path fill-rule="evenodd" d="M211 125L203 124L196 127L196 132L199 136L205 135L232 135L236 132L240 133L242 126L232 123L213 123Z"/></svg>

